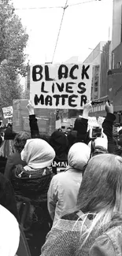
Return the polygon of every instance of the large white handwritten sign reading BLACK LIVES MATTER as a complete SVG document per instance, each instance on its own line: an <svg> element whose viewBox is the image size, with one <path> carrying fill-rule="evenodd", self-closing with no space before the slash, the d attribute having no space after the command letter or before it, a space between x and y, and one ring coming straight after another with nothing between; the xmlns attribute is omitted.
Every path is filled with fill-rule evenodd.
<svg viewBox="0 0 122 256"><path fill-rule="evenodd" d="M33 65L30 74L35 108L83 109L91 99L92 65Z"/></svg>

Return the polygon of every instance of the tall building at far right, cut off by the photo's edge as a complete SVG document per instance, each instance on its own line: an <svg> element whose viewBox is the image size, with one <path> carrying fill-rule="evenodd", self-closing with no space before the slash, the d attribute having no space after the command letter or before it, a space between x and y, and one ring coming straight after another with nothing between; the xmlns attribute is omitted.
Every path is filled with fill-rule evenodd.
<svg viewBox="0 0 122 256"><path fill-rule="evenodd" d="M122 0L113 0L113 65L108 76L108 94L113 100L116 121L122 124Z"/></svg>

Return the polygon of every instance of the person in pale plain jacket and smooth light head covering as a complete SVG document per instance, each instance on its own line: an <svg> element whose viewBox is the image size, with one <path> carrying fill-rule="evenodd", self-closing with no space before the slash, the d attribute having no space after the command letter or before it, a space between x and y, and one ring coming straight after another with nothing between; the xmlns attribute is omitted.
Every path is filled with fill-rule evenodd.
<svg viewBox="0 0 122 256"><path fill-rule="evenodd" d="M47 195L50 217L58 219L76 207L83 168L90 159L91 149L85 143L75 143L68 152L68 167L63 173L53 177Z"/></svg>

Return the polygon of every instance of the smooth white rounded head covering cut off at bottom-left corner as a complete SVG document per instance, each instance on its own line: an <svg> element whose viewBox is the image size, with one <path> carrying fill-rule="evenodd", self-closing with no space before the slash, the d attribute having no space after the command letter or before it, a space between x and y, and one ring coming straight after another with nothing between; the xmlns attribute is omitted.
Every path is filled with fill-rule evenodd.
<svg viewBox="0 0 122 256"><path fill-rule="evenodd" d="M20 229L16 218L0 205L0 255L13 256L20 242Z"/></svg>

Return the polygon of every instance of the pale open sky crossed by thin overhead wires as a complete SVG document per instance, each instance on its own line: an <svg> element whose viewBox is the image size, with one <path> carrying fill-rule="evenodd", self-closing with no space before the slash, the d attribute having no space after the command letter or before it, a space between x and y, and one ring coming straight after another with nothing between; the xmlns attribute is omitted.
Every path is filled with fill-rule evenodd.
<svg viewBox="0 0 122 256"><path fill-rule="evenodd" d="M61 63L73 56L78 56L78 60L82 62L91 54L92 50L89 48L94 49L100 41L111 39L113 0L68 0L55 54L63 9L39 8L65 6L66 0L12 2L15 13L21 18L29 35L26 53L32 64L51 61ZM76 5L77 3L82 4Z"/></svg>

